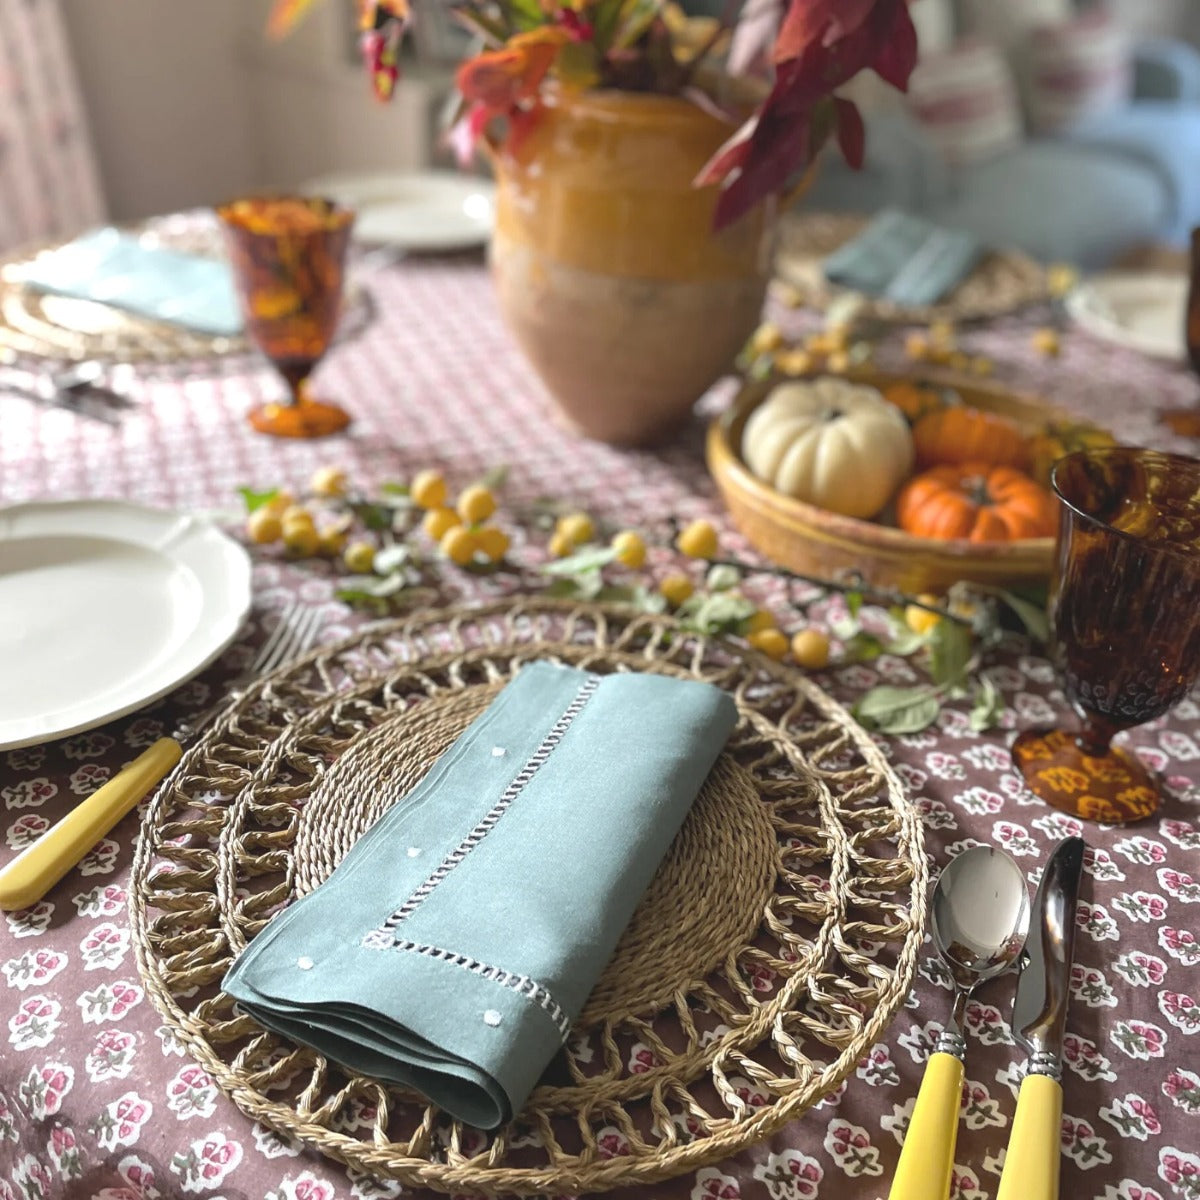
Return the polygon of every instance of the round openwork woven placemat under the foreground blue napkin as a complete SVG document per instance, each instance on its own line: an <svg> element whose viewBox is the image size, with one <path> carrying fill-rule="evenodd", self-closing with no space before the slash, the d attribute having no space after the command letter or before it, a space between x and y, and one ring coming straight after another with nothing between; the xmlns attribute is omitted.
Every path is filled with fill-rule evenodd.
<svg viewBox="0 0 1200 1200"><path fill-rule="evenodd" d="M263 1031L220 983L535 659L706 679L739 721L563 1054L484 1134ZM408 1186L578 1194L719 1162L836 1087L908 991L926 882L881 750L800 673L530 600L373 625L235 697L151 802L130 902L155 1004L248 1116Z"/></svg>

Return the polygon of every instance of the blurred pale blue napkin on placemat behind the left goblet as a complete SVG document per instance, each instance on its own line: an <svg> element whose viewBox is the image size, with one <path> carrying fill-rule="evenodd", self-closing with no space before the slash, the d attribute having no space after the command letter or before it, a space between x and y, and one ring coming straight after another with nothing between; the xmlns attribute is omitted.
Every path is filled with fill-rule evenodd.
<svg viewBox="0 0 1200 1200"><path fill-rule="evenodd" d="M40 292L98 300L215 337L242 328L227 263L146 246L112 227L38 254L16 276Z"/></svg>

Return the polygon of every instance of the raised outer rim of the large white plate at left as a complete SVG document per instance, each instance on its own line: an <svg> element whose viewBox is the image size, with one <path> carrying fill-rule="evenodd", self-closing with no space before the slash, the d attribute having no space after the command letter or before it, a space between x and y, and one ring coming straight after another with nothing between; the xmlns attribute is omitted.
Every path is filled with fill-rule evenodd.
<svg viewBox="0 0 1200 1200"><path fill-rule="evenodd" d="M118 499L30 500L0 506L0 546L18 536L49 533L94 534L166 553L197 576L203 607L192 636L140 683L136 678L128 692L118 692L121 700L96 702L92 712L83 706L83 714L67 709L59 724L32 718L0 724L0 751L85 733L161 700L215 661L250 614L250 554L204 517ZM157 535L154 540L152 534Z"/></svg>

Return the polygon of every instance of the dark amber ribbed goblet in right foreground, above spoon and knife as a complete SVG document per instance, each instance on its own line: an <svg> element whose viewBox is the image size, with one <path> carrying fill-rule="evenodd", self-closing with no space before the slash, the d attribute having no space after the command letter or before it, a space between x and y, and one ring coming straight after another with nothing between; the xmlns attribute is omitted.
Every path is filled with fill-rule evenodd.
<svg viewBox="0 0 1200 1200"><path fill-rule="evenodd" d="M1112 738L1162 716L1200 673L1200 462L1126 446L1054 468L1062 502L1050 616L1078 730L1022 733L1030 788L1109 824L1158 810L1158 784Z"/></svg>

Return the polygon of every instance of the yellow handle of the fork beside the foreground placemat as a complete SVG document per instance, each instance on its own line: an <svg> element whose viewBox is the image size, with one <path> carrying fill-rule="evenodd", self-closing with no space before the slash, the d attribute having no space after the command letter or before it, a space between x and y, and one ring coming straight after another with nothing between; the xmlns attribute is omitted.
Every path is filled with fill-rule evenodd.
<svg viewBox="0 0 1200 1200"><path fill-rule="evenodd" d="M179 762L184 748L160 738L0 871L0 910L36 904Z"/></svg>

